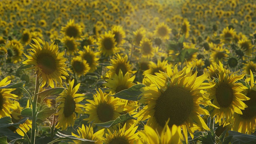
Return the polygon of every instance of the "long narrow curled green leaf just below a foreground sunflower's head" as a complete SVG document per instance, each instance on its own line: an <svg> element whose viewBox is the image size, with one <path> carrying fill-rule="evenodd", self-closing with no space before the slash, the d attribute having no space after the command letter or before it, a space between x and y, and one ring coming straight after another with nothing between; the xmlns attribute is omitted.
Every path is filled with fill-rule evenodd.
<svg viewBox="0 0 256 144"><path fill-rule="evenodd" d="M116 118L116 120L111 120L109 122L103 122L103 123L99 123L99 124L95 124L95 125L109 128L111 126L114 126L115 124L119 124L120 122L125 122L126 120L136 120L136 118L130 116L130 114L127 113L127 114L118 116L118 118Z"/></svg>

